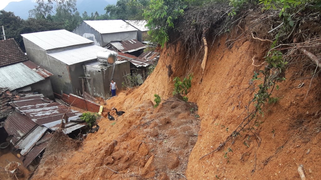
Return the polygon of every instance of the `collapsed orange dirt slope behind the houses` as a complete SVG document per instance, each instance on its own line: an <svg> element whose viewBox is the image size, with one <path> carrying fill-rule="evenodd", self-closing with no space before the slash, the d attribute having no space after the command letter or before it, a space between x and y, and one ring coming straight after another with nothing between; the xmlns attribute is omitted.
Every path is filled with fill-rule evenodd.
<svg viewBox="0 0 321 180"><path fill-rule="evenodd" d="M213 43L204 74L179 44L163 49L142 86L106 101L105 108L126 111L115 124L103 118L80 149L45 154L32 179L300 179L299 165L308 179L320 179L320 77L311 78L316 67L309 59L291 61L287 80L273 93L279 101L266 103L264 117L249 127L255 134L244 131L200 160L253 109L248 102L260 81L250 79L263 67L252 58L261 64L269 44L249 36L266 32L264 22L256 29L250 21ZM243 32L243 39L230 41ZM188 98L198 105L199 119L193 104L170 98L173 78L187 74L194 76ZM156 109L154 94L162 98Z"/></svg>

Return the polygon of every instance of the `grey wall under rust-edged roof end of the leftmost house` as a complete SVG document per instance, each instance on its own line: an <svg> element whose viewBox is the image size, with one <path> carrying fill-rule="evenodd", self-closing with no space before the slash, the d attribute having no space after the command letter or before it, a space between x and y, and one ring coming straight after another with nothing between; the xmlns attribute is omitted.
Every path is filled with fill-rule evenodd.
<svg viewBox="0 0 321 180"><path fill-rule="evenodd" d="M55 100L54 92L52 91L50 77L30 85L30 87L31 89L36 89L39 94L43 94L45 97L48 97L51 100Z"/></svg>

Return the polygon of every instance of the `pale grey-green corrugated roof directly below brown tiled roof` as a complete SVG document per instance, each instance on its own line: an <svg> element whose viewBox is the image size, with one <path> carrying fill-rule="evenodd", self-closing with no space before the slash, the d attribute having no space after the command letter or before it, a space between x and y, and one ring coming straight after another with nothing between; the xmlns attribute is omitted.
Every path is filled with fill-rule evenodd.
<svg viewBox="0 0 321 180"><path fill-rule="evenodd" d="M10 91L44 79L22 62L0 68L0 87L8 87Z"/></svg>

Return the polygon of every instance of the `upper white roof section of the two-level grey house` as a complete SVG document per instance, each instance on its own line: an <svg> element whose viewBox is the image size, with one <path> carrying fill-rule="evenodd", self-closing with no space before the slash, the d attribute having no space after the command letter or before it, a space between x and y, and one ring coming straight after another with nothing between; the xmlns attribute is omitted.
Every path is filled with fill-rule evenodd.
<svg viewBox="0 0 321 180"><path fill-rule="evenodd" d="M22 34L21 36L44 50L93 43L93 41L65 29Z"/></svg>

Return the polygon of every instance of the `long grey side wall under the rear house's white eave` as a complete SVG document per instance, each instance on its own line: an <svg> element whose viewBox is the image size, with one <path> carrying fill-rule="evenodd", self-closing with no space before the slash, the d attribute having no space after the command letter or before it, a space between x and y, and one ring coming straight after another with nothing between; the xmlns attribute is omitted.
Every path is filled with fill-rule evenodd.
<svg viewBox="0 0 321 180"><path fill-rule="evenodd" d="M116 32L101 35L101 47L106 46L111 41L137 39L137 31Z"/></svg>

